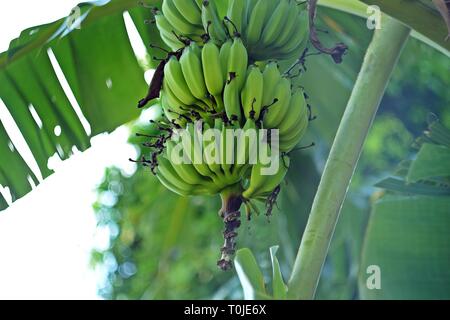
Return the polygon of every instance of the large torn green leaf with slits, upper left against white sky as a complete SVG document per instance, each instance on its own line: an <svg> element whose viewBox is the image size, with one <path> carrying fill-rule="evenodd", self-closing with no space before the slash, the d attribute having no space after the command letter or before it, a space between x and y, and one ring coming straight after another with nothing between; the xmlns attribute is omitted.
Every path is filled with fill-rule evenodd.
<svg viewBox="0 0 450 320"><path fill-rule="evenodd" d="M51 156L67 159L73 147L85 150L90 137L136 118L137 101L147 91L145 70L132 50L123 13L129 12L146 44L161 44L156 27L145 24L152 18L150 9L134 0L94 1L78 7L80 17L75 22L67 17L24 30L0 54L0 99L39 167L39 172L31 171L2 125L0 184L9 188L13 201L31 190L30 180L37 185L37 177L52 173L47 166ZM161 53L149 50L150 56ZM148 65L155 66L155 61ZM58 71L82 115L64 91ZM57 135L58 126L61 134ZM6 207L1 197L0 210Z"/></svg>

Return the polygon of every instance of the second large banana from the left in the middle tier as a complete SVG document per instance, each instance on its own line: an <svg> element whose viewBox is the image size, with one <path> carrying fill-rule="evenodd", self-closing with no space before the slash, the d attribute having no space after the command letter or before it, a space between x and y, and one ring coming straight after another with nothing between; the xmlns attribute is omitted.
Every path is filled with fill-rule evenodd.
<svg viewBox="0 0 450 320"><path fill-rule="evenodd" d="M181 70L192 95L205 101L208 92L203 78L203 68L198 45L193 42L183 51L180 58Z"/></svg>

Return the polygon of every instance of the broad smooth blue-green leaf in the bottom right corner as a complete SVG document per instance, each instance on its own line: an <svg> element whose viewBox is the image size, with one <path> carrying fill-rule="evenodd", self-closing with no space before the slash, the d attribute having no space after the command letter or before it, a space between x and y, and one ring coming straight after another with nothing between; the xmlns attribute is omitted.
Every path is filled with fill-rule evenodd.
<svg viewBox="0 0 450 320"><path fill-rule="evenodd" d="M450 198L388 196L374 205L359 274L362 299L450 299ZM369 266L380 289L369 289Z"/></svg>

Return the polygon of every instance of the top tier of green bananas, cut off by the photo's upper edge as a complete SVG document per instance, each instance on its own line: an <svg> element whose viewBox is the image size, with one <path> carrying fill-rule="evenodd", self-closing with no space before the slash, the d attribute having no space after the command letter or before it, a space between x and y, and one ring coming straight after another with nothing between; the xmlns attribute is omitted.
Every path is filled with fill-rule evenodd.
<svg viewBox="0 0 450 320"><path fill-rule="evenodd" d="M207 35L217 45L239 35L252 61L295 58L309 34L305 1L297 0L164 0L155 20L173 50L183 47L177 35L199 44Z"/></svg>

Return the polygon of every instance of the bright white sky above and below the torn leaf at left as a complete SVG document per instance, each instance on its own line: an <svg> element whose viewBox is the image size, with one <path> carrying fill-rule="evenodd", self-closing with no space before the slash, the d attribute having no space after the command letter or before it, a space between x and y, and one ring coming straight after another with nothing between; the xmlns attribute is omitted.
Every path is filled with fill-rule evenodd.
<svg viewBox="0 0 450 320"><path fill-rule="evenodd" d="M0 52L21 30L66 16L78 2L0 2ZM94 138L91 149L56 164L57 173L0 212L0 299L98 298L101 275L88 264L92 248L107 245L108 235L96 229L91 206L107 166L133 171L128 134L122 127Z"/></svg>

